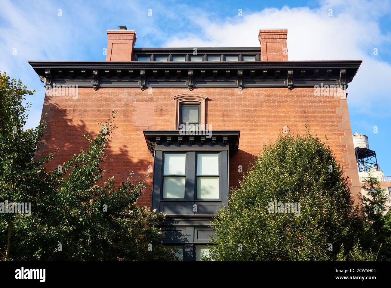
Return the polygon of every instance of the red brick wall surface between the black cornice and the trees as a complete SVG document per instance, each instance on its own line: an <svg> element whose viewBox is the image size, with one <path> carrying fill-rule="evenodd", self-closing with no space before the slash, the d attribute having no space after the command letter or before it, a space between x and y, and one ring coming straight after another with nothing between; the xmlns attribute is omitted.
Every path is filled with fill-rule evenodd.
<svg viewBox="0 0 391 288"><path fill-rule="evenodd" d="M330 89L331 91L331 89ZM239 151L230 158L230 186L237 186L250 162L273 142L283 127L294 134L305 133L305 124L328 144L341 162L353 184L352 195L357 201L360 183L353 148L352 131L346 99L334 96L314 96L313 88L199 88L193 91L208 97L205 122L212 130L240 130ZM331 93L331 92L330 92ZM153 157L147 148L143 130L173 130L176 113L174 96L190 94L182 88L79 88L77 99L72 96L45 96L43 112L48 112L48 128L44 135L47 146L40 153L59 148L57 157L48 166L57 167L81 149L87 148L83 133L96 134L98 122L104 122L112 110L118 112L106 152L105 179L114 175L117 184L129 171L135 175L149 174L147 188L139 205L151 204ZM256 140L254 140L256 139Z"/></svg>

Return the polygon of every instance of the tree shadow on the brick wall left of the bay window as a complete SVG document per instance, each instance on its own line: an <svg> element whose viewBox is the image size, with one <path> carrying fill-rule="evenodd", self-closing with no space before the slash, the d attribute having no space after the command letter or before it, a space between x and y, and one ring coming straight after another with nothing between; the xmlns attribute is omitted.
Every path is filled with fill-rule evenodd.
<svg viewBox="0 0 391 288"><path fill-rule="evenodd" d="M46 97L45 97L46 100ZM46 164L48 170L56 169L58 165L63 165L73 155L80 153L82 149L88 149L88 141L83 138L83 134L90 134L92 137L96 137L100 131L98 122L104 123L106 119L111 115L111 111L107 112L107 115L98 115L95 121L96 123L86 121L83 119L73 121L68 117L66 109L60 108L54 104L45 103L43 113L47 113L46 122L47 128L44 131L42 145L39 150L36 151L34 158L41 158L48 153L56 152L56 157ZM114 119L115 120L115 119ZM114 124L115 121L114 121ZM109 141L108 147L105 149L106 158L102 163L102 167L106 170L103 178L99 180L98 184L102 183L108 178L114 176L114 180L117 185L120 185L127 179L130 172L133 171L131 181L138 182L145 178L148 174L149 177L145 178L146 187L143 190L142 195L138 199L137 204L141 206L151 205L151 193L152 193L152 167L153 157L149 153L145 144L145 151L148 151L147 157L138 159L131 157L132 147L129 144L122 144L119 135L113 133L112 139ZM138 177L140 175L140 177Z"/></svg>

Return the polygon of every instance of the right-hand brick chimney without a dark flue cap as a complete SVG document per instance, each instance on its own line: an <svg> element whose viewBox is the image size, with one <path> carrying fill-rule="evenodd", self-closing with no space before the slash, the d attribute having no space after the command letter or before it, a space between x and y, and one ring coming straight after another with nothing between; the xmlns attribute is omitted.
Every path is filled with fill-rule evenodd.
<svg viewBox="0 0 391 288"><path fill-rule="evenodd" d="M288 29L259 29L261 61L288 61Z"/></svg>

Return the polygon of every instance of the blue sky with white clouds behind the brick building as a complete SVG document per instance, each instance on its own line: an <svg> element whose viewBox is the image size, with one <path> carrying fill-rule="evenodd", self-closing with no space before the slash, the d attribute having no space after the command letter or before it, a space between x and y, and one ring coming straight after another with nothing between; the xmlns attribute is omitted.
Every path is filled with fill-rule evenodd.
<svg viewBox="0 0 391 288"><path fill-rule="evenodd" d="M104 61L106 30L119 25L136 30L135 47L259 46L259 28L287 28L289 60L363 60L347 90L352 131L368 135L391 176L390 1L2 0L0 71L36 90L27 128L45 94L27 61Z"/></svg>

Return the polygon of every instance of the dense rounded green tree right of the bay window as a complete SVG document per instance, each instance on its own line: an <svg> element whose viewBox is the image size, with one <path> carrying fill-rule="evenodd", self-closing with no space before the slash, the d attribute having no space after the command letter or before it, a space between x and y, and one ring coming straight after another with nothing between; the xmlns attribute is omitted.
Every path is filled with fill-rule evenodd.
<svg viewBox="0 0 391 288"><path fill-rule="evenodd" d="M357 213L330 147L308 131L280 135L217 214L206 260L375 260L360 245L368 229Z"/></svg>

